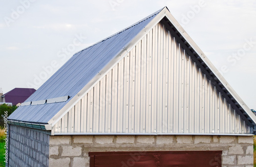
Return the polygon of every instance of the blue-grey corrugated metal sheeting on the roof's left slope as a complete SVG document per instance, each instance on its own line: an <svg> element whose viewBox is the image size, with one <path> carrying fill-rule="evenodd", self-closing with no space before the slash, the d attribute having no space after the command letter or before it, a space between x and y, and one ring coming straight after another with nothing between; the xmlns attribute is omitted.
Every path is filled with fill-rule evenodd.
<svg viewBox="0 0 256 167"><path fill-rule="evenodd" d="M27 102L70 96L68 101L20 106L8 119L47 124L47 122L86 86L104 66L115 58L161 10L127 27L123 31L74 54L65 65L26 100Z"/></svg>

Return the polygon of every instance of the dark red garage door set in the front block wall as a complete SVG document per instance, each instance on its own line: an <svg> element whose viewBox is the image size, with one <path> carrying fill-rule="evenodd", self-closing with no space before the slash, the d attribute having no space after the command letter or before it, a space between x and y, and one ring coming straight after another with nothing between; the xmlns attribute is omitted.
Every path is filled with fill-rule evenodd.
<svg viewBox="0 0 256 167"><path fill-rule="evenodd" d="M222 151L90 152L90 167L221 166Z"/></svg>

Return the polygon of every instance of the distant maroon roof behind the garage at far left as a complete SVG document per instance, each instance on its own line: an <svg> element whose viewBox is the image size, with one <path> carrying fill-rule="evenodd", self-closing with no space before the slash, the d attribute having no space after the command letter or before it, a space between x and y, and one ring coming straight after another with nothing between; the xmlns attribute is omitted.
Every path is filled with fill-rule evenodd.
<svg viewBox="0 0 256 167"><path fill-rule="evenodd" d="M35 91L36 90L33 88L14 88L13 90L7 92L3 96L5 97L5 102L12 103L12 105L16 105L18 103L23 103Z"/></svg>

